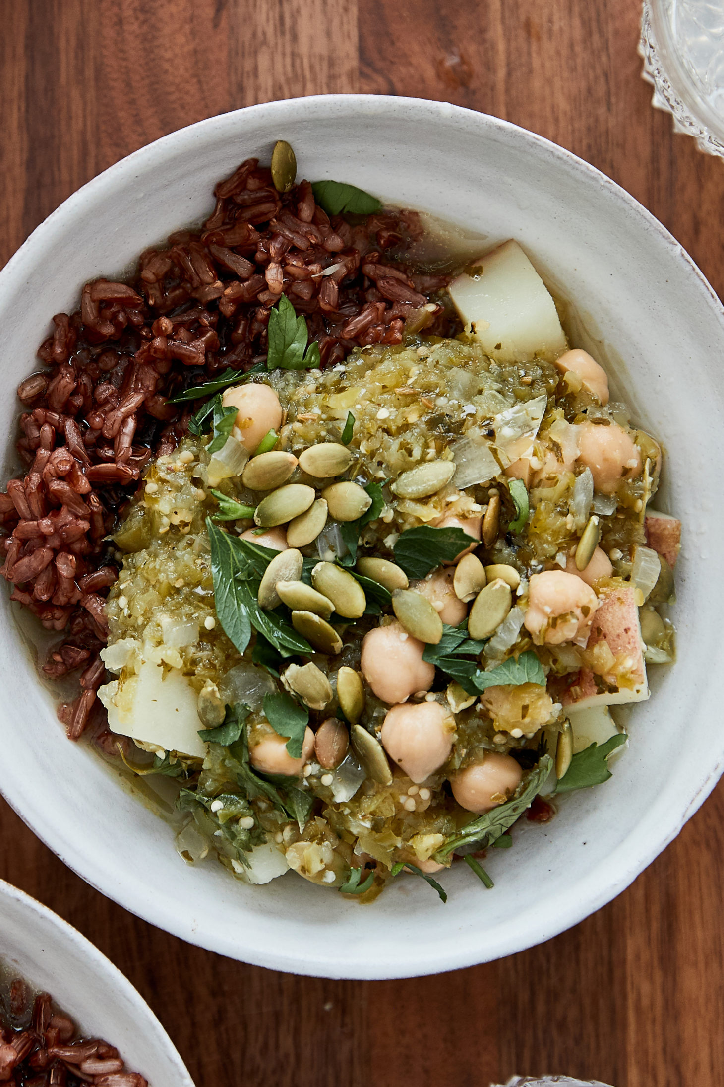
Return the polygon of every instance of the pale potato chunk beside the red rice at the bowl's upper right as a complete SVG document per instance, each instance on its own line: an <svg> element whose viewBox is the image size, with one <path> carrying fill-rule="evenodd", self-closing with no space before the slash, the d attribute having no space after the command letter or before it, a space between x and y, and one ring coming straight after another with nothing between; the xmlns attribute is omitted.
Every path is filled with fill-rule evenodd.
<svg viewBox="0 0 724 1087"><path fill-rule="evenodd" d="M566 350L556 304L517 241L504 242L472 266L480 273L463 272L450 284L449 295L492 358L519 362L537 354L552 360Z"/></svg>

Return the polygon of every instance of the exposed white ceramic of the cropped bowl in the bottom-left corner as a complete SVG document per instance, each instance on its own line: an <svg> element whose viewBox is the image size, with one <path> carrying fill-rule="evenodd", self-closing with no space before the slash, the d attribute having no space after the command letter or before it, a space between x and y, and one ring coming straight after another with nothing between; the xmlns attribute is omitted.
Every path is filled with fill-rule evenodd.
<svg viewBox="0 0 724 1087"><path fill-rule="evenodd" d="M47 907L0 880L0 961L50 992L84 1035L103 1038L150 1087L193 1087L145 1000L98 948Z"/></svg>

